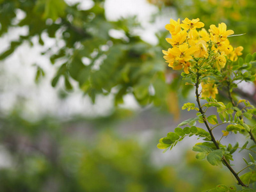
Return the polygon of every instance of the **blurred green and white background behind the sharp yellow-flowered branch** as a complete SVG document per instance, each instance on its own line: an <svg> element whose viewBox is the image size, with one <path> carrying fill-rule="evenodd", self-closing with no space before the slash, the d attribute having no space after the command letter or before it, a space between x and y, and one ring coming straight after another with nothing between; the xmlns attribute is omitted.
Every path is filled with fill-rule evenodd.
<svg viewBox="0 0 256 192"><path fill-rule="evenodd" d="M1 191L189 192L235 184L227 169L195 159L193 136L172 152L156 147L195 115L180 111L195 102L193 86L164 62L164 26L185 17L200 18L205 29L225 22L246 33L230 37L244 56L256 51L255 9L254 0L1 0ZM234 93L255 104L255 84ZM221 127L214 133L220 137Z"/></svg>

